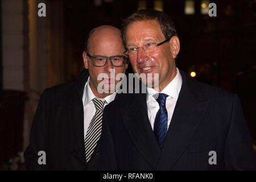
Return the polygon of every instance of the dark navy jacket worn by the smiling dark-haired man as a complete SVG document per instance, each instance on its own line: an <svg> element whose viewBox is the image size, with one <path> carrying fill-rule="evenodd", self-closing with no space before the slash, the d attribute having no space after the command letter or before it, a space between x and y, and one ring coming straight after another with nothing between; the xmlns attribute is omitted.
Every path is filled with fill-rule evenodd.
<svg viewBox="0 0 256 182"><path fill-rule="evenodd" d="M162 149L148 120L146 93L105 107L100 170L256 169L240 100L181 72L183 83Z"/></svg>

